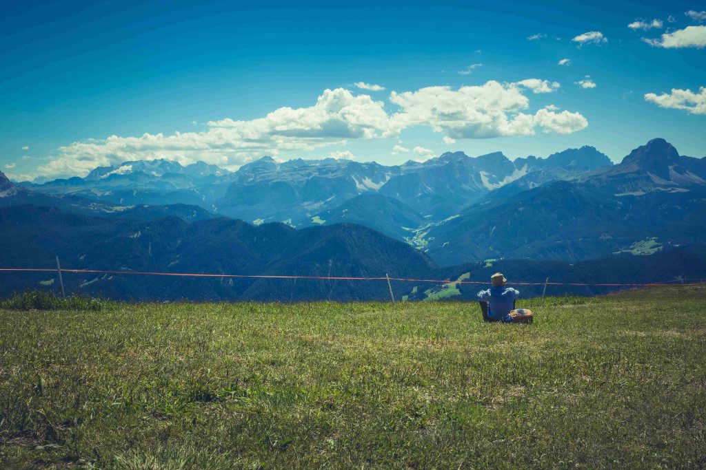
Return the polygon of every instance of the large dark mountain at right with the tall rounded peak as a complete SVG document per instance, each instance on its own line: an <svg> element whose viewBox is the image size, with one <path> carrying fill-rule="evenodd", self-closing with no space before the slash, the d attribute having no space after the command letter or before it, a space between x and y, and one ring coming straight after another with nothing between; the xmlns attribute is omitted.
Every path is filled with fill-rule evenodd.
<svg viewBox="0 0 706 470"><path fill-rule="evenodd" d="M706 210L701 165L657 139L580 181L518 194L501 188L431 228L429 255L441 264L503 256L577 261L629 251L648 237L665 246L701 242L706 223L694 216Z"/></svg>

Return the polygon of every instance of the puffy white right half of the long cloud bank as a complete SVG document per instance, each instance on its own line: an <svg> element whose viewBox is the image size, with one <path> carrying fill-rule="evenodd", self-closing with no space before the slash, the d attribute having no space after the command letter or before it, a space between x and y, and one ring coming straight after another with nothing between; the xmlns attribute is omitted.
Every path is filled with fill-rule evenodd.
<svg viewBox="0 0 706 470"><path fill-rule="evenodd" d="M490 80L457 90L426 87L416 92L392 92L390 101L402 109L393 116L398 127L429 125L452 139L533 135L537 126L545 132L556 132L555 128L545 128L549 111L541 117L521 112L529 108L530 100L515 83Z"/></svg>

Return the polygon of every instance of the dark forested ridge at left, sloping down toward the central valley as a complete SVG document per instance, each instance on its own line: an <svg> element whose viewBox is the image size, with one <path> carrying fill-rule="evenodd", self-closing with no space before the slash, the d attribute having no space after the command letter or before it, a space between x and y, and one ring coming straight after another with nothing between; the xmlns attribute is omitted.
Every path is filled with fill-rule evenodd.
<svg viewBox="0 0 706 470"><path fill-rule="evenodd" d="M294 230L280 223L253 226L226 218L186 223L169 217L151 221L66 214L56 208L0 208L0 266L186 273L301 274L313 276L421 276L434 267L424 254L358 225ZM1 294L39 287L52 274L6 276ZM53 282L53 281L52 281ZM136 299L383 298L383 283L371 285L277 280L267 286L239 278L65 276L70 290ZM268 281L270 282L270 281ZM53 285L53 284L52 284ZM56 286L54 286L56 287ZM294 290L292 290L294 288Z"/></svg>

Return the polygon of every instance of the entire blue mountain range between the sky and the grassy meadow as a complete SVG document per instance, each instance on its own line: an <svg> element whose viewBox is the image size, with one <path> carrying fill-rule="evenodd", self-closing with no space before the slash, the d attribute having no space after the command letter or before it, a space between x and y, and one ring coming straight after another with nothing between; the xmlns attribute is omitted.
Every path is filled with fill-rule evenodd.
<svg viewBox="0 0 706 470"><path fill-rule="evenodd" d="M433 271L442 278L459 265L478 271L502 259L642 266L635 255L688 252L706 242L706 158L681 156L654 139L615 165L594 147L514 161L501 152L449 152L398 166L264 157L235 172L203 162L128 161L42 184L13 183L0 173L0 207L4 225L13 221L19 230L0 227L0 249L24 256L6 253L4 265L43 265L59 254L68 267L314 276ZM66 229L69 219L76 230ZM157 228L152 240L147 234ZM32 249L19 250L22 243ZM270 244L277 247L271 253ZM665 275L680 276L672 268ZM174 283L184 289L165 291L165 298L263 298L268 283L279 281L210 282L196 291ZM150 286L145 280L110 290L129 282L96 283L116 296L145 297L141 289ZM366 295L385 297L384 287ZM361 298L358 288L339 285L334 297ZM326 297L323 284L304 292Z"/></svg>

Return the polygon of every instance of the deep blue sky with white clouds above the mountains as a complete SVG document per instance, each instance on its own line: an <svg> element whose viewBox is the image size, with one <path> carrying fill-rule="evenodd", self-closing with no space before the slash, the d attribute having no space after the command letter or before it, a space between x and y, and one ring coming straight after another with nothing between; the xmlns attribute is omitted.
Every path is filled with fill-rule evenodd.
<svg viewBox="0 0 706 470"><path fill-rule="evenodd" d="M620 161L654 137L706 156L705 9L16 2L0 18L0 171L46 179L160 157L234 169L265 154L390 164L584 144Z"/></svg>

